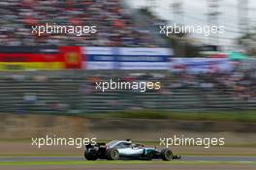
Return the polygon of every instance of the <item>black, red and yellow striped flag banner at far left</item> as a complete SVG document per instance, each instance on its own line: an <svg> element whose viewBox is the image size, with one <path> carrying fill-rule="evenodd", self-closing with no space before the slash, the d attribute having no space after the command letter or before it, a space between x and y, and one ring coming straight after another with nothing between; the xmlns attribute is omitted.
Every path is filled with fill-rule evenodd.
<svg viewBox="0 0 256 170"><path fill-rule="evenodd" d="M56 46L0 46L0 71L63 68L64 61Z"/></svg>

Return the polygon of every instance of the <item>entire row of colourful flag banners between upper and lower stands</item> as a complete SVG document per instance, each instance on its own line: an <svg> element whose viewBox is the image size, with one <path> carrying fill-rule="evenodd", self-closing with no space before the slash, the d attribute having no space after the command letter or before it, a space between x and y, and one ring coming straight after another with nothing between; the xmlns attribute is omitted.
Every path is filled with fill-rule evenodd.
<svg viewBox="0 0 256 170"><path fill-rule="evenodd" d="M42 46L1 47L0 71L167 70L231 71L229 58L174 58L169 48Z"/></svg>

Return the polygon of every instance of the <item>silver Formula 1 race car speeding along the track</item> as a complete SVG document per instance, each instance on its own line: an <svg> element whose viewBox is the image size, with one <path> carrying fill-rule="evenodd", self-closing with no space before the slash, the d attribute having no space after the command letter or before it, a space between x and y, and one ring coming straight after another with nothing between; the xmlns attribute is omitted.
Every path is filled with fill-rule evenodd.
<svg viewBox="0 0 256 170"><path fill-rule="evenodd" d="M145 148L141 144L133 144L131 140L113 140L109 143L97 143L86 145L84 157L87 160L100 159L163 159L170 161L179 159L181 156L174 156L170 149L158 150L157 148Z"/></svg>

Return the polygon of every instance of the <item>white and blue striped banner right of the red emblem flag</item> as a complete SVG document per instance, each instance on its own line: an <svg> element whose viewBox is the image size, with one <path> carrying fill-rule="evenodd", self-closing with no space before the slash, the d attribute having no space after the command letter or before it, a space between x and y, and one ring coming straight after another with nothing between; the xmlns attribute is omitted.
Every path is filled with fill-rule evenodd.
<svg viewBox="0 0 256 170"><path fill-rule="evenodd" d="M169 70L173 51L168 48L83 47L83 69Z"/></svg>

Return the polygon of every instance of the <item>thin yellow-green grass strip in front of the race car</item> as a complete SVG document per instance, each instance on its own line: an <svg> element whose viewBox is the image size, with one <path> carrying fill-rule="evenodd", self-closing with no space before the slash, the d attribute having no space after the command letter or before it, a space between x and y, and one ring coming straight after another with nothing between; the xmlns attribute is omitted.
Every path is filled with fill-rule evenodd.
<svg viewBox="0 0 256 170"><path fill-rule="evenodd" d="M26 166L26 165L114 165L114 164L191 164L191 165L204 165L204 164L256 164L255 161L144 161L144 160L97 160L97 161L16 161L16 162L0 162L0 166Z"/></svg>

